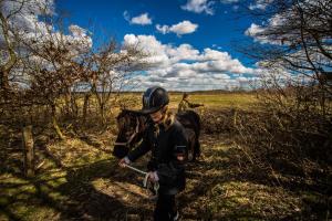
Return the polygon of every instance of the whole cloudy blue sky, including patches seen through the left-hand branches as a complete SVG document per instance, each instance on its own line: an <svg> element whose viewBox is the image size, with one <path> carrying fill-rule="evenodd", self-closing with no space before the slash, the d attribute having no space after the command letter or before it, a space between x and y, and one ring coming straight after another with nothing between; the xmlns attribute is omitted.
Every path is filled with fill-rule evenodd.
<svg viewBox="0 0 332 221"><path fill-rule="evenodd" d="M148 54L144 57L148 65L133 75L135 84L127 90L249 88L261 70L238 52L238 45L269 42L255 35L261 24L241 10L243 6L264 10L269 1L273 0L31 0L12 23L24 29L28 38L35 38L37 29L46 33L49 24L40 20L37 7L46 3L49 13L66 14L66 39L75 45L97 49L112 36L120 45L138 46ZM6 0L1 10L10 13L18 8L15 1ZM53 34L60 33L54 29Z"/></svg>

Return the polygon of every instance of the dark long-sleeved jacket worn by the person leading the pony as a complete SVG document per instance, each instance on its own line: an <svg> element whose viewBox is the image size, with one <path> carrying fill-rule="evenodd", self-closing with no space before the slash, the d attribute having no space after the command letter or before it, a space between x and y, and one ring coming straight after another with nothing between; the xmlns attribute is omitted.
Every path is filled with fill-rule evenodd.
<svg viewBox="0 0 332 221"><path fill-rule="evenodd" d="M185 189L185 161L187 158L187 138L185 129L175 119L166 130L159 125L159 133L151 124L145 131L143 141L128 154L131 161L152 150L152 158L147 164L148 171L157 171L159 178L159 191L165 194L176 194ZM179 160L178 156L185 156Z"/></svg>

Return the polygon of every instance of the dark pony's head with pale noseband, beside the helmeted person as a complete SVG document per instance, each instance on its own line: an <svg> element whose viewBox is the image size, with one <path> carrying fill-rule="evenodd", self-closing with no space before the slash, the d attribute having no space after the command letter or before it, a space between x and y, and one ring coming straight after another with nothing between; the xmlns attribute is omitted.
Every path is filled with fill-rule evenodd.
<svg viewBox="0 0 332 221"><path fill-rule="evenodd" d="M146 127L146 117L138 112L123 109L116 117L116 122L118 134L113 155L123 158L142 139Z"/></svg>

